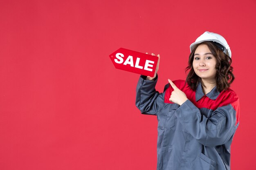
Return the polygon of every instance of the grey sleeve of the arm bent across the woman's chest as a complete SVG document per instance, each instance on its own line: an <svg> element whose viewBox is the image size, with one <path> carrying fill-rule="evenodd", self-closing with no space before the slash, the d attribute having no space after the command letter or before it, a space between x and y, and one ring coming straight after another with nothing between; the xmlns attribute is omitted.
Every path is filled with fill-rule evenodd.
<svg viewBox="0 0 256 170"><path fill-rule="evenodd" d="M235 103L235 104L234 104ZM239 100L221 106L213 111L211 117L207 118L200 113L200 110L190 101L186 100L175 112L177 119L182 126L195 139L204 146L218 146L225 144L234 134L236 124L236 111L233 106L238 106Z"/></svg>

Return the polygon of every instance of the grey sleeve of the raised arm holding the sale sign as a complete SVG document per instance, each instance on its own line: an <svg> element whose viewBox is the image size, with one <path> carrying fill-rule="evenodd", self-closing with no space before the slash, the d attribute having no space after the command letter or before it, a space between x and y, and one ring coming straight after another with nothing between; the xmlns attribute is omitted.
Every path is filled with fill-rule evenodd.
<svg viewBox="0 0 256 170"><path fill-rule="evenodd" d="M164 106L164 93L155 90L158 75L154 80L146 80L141 75L136 88L136 106L145 115L157 115Z"/></svg>

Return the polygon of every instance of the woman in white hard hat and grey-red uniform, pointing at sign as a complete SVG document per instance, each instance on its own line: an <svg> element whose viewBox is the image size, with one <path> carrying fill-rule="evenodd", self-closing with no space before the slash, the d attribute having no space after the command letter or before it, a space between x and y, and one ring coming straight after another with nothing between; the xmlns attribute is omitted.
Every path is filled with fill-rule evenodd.
<svg viewBox="0 0 256 170"><path fill-rule="evenodd" d="M154 77L139 78L136 106L157 115L157 170L229 170L239 124L239 99L229 88L231 51L221 35L208 31L190 48L186 81L168 79L159 94L158 60Z"/></svg>

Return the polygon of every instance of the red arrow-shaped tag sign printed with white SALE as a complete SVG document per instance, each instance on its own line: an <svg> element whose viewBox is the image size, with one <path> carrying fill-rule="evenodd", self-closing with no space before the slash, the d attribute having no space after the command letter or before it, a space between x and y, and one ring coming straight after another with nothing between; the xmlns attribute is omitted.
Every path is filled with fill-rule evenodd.
<svg viewBox="0 0 256 170"><path fill-rule="evenodd" d="M154 77L158 57L120 48L109 55L115 68Z"/></svg>

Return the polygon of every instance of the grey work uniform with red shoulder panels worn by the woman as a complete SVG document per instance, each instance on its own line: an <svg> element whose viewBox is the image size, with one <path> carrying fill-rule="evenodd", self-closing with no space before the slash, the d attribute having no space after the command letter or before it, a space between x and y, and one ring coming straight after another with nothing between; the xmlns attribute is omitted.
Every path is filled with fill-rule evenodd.
<svg viewBox="0 0 256 170"><path fill-rule="evenodd" d="M142 114L157 115L157 170L230 170L230 146L239 124L239 99L230 88L214 87L204 95L201 84L192 91L184 80L173 83L188 100L170 102L173 88L155 90L155 80L139 78L136 106Z"/></svg>

